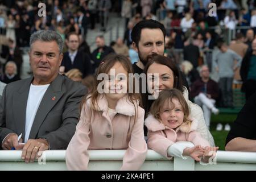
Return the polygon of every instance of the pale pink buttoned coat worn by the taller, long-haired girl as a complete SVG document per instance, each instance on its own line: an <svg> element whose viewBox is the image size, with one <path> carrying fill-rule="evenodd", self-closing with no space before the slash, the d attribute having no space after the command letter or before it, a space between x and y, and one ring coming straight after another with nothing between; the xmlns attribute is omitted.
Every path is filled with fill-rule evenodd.
<svg viewBox="0 0 256 182"><path fill-rule="evenodd" d="M127 149L121 169L138 170L147 154L142 107L137 107L138 118L134 124L134 105L127 97L117 102L117 114L112 121L104 95L100 95L98 99L98 110L92 109L90 102L90 99L87 100L82 108L76 133L66 151L68 169L86 170L89 162L88 149Z"/></svg>

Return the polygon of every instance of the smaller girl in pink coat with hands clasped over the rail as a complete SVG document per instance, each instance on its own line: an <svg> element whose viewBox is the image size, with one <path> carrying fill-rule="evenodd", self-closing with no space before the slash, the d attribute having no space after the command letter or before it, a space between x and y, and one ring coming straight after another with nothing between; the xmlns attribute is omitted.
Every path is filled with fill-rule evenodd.
<svg viewBox="0 0 256 182"><path fill-rule="evenodd" d="M167 159L172 156L183 159L191 156L201 164L206 164L210 157L215 156L218 147L210 147L209 142L196 132L197 124L196 119L189 118L189 107L182 93L177 89L163 90L145 120L147 146ZM182 144L181 141L188 142ZM192 143L189 145L189 142L195 146Z"/></svg>

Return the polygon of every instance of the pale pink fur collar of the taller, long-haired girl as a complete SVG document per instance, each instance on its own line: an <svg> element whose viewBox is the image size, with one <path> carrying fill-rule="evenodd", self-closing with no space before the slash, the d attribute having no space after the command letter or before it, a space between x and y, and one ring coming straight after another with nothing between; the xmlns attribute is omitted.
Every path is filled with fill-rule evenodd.
<svg viewBox="0 0 256 182"><path fill-rule="evenodd" d="M88 96L89 97L89 96ZM91 98L89 98L86 101L86 104L91 107ZM104 94L100 94L100 96L97 99L97 106L96 109L98 111L102 111L102 112L106 112L108 111L108 101L106 100L106 97L104 96ZM136 106L136 108L138 108L139 106L139 101L135 101L134 100L134 104ZM128 116L133 116L135 115L135 108L133 103L131 103L129 101L129 98L127 96L121 98L118 102L117 102L117 106L115 106L115 111L117 111L117 113L119 114L124 114L124 115L128 115Z"/></svg>

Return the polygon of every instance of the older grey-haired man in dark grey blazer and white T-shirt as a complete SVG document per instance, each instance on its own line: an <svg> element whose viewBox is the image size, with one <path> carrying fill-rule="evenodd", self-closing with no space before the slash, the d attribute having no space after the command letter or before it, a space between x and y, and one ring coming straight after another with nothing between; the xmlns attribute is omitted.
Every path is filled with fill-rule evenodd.
<svg viewBox="0 0 256 182"><path fill-rule="evenodd" d="M67 148L79 121L79 104L86 88L59 74L62 49L63 40L56 32L32 34L29 56L33 77L12 82L3 91L1 147L22 149L26 163L39 157L39 151ZM18 143L22 141L24 144Z"/></svg>

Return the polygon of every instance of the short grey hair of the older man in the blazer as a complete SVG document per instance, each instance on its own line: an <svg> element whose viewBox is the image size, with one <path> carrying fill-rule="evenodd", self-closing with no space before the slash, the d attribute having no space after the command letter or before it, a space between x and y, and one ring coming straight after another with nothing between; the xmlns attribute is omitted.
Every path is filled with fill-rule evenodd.
<svg viewBox="0 0 256 182"><path fill-rule="evenodd" d="M30 36L30 49L31 45L36 41L43 41L43 42L52 42L55 41L59 46L59 51L62 53L63 50L63 39L61 38L60 34L56 31L52 30L39 30L34 32Z"/></svg>

